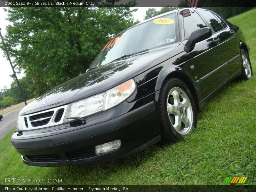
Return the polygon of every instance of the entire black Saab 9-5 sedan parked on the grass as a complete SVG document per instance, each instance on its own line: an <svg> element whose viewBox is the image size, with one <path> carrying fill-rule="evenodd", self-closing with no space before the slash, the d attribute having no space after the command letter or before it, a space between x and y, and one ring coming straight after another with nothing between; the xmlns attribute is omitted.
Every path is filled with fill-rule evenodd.
<svg viewBox="0 0 256 192"><path fill-rule="evenodd" d="M86 73L23 108L12 144L25 164L62 166L175 142L238 76L252 77L238 26L205 9L167 12L119 33Z"/></svg>

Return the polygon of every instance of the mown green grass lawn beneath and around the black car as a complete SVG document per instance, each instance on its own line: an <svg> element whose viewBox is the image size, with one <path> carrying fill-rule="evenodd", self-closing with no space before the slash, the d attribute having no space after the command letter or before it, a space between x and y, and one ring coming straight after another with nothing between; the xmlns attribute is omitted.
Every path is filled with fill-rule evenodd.
<svg viewBox="0 0 256 192"><path fill-rule="evenodd" d="M255 16L253 9L229 19L244 31L254 71ZM198 114L197 128L184 140L164 147L155 145L118 161L27 166L12 147L10 132L0 140L0 184L5 184L5 177L16 177L62 179L65 185L220 185L225 177L246 176L246 184L256 185L255 85L255 76L250 81L231 82L207 102Z"/></svg>

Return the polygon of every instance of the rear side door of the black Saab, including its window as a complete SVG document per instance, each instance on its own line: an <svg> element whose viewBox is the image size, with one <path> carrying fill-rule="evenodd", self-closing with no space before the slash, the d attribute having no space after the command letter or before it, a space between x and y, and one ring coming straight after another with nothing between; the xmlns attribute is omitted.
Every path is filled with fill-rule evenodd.
<svg viewBox="0 0 256 192"><path fill-rule="evenodd" d="M223 20L215 13L208 10L198 10L199 14L204 17L210 25L214 34L220 39L218 44L218 58L223 63L225 79L229 79L241 69L240 53L238 43L236 43L235 30L232 30Z"/></svg>

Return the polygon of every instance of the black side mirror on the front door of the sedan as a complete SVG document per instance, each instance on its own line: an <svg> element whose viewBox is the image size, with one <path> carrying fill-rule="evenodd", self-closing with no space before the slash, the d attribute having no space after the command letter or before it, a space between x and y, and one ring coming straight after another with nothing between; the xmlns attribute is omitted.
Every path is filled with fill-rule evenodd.
<svg viewBox="0 0 256 192"><path fill-rule="evenodd" d="M212 30L209 27L197 29L189 36L189 41L192 44L196 44L212 36Z"/></svg>

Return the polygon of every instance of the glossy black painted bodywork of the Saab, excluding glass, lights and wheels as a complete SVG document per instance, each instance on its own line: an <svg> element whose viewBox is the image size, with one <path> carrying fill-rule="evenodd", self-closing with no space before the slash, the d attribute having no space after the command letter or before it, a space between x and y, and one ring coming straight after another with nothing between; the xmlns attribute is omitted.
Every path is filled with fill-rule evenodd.
<svg viewBox="0 0 256 192"><path fill-rule="evenodd" d="M177 17L180 16L180 11L174 12ZM195 45L186 47L188 40L184 39L184 34L178 33L178 43L92 69L37 98L23 108L20 114L65 105L104 92L132 78L137 85L136 91L126 101L86 117L86 124L75 121L56 127L23 131L21 134L15 132L12 144L23 156L57 153L62 159L58 163L33 163L25 157L24 163L36 166L87 164L130 155L160 141L158 96L166 78L182 79L192 92L197 111L200 111L212 94L241 74L240 50L249 49L241 29L225 22L227 28L212 33L210 38ZM179 25L177 22L176 25L177 30L182 28L180 18ZM207 25L211 28L209 23ZM235 34L231 34L231 30ZM212 42L215 37L220 39L218 44ZM48 102L42 105L46 100ZM86 150L116 139L121 140L121 148L114 152L81 160L68 160L69 152Z"/></svg>

